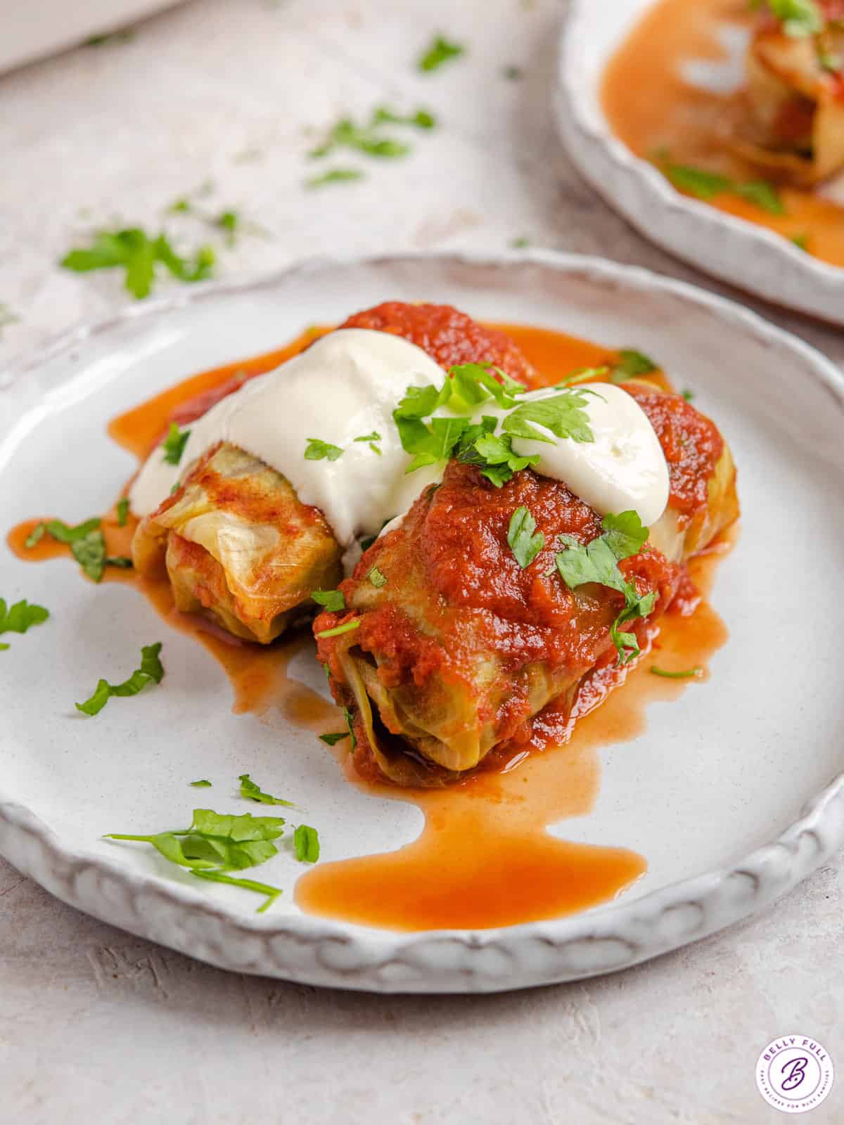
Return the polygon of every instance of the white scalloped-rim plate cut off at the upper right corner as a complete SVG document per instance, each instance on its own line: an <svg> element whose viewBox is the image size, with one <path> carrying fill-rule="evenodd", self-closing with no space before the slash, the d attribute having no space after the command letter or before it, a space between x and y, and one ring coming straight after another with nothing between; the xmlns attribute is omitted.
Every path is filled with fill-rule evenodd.
<svg viewBox="0 0 844 1125"><path fill-rule="evenodd" d="M653 0L572 0L558 55L556 116L568 154L592 187L646 238L767 300L844 324L844 269L788 238L680 195L610 129L601 79Z"/></svg>

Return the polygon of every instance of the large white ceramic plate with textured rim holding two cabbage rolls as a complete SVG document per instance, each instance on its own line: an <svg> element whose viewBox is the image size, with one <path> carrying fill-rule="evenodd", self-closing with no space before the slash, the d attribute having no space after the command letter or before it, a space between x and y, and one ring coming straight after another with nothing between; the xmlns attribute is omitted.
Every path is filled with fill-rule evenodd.
<svg viewBox="0 0 844 1125"><path fill-rule="evenodd" d="M197 776L215 780L213 806L231 810L226 783L244 770L307 810L325 860L394 848L417 834L421 814L350 786L312 734L233 716L217 664L132 588L96 587L63 560L33 565L6 550L2 595L53 616L0 654L0 852L66 902L213 964L384 991L607 972L763 908L844 838L844 380L745 309L641 270L547 252L324 261L183 290L72 332L11 372L0 390L0 525L105 510L133 469L106 436L110 417L190 372L385 298L643 348L694 388L733 446L743 530L713 595L730 640L708 684L652 706L645 735L602 753L594 811L557 828L635 848L647 875L616 903L556 921L393 934L290 904L257 915L252 896L197 886L152 849L102 842L105 831L181 822ZM100 675L128 670L158 639L167 680L154 695L114 701L96 720L74 713ZM308 652L293 673L324 691ZM261 875L291 889L296 870L279 856Z"/></svg>

